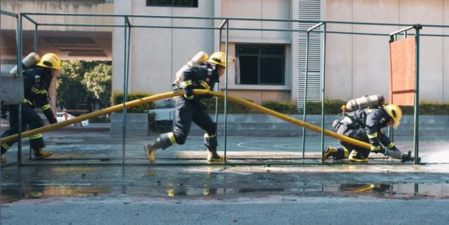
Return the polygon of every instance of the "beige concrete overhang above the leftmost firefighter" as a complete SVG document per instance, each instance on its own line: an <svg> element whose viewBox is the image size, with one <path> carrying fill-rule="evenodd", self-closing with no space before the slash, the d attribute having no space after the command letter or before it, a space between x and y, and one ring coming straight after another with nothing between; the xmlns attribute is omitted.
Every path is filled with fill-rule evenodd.
<svg viewBox="0 0 449 225"><path fill-rule="evenodd" d="M113 14L114 4L109 0L17 1L2 0L1 10L12 13ZM109 24L113 17L94 16L39 16L29 15L38 23L52 24ZM1 64L12 64L16 57L16 19L1 15ZM26 56L34 50L32 22L23 17L22 49ZM38 27L39 55L53 52L62 59L111 60L111 27Z"/></svg>

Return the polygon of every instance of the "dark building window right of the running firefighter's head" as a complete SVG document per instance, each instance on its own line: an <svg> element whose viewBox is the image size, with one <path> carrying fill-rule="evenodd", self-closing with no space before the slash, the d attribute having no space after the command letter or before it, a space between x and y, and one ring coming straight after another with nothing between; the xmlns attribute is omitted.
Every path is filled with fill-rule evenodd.
<svg viewBox="0 0 449 225"><path fill-rule="evenodd" d="M235 45L237 85L284 85L285 45Z"/></svg>

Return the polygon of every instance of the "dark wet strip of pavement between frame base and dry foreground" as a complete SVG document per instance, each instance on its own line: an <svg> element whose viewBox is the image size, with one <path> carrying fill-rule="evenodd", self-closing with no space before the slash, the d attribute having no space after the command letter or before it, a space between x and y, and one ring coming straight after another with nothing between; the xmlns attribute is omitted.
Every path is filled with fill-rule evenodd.
<svg viewBox="0 0 449 225"><path fill-rule="evenodd" d="M32 198L449 198L449 166L24 166L4 168L1 202Z"/></svg>

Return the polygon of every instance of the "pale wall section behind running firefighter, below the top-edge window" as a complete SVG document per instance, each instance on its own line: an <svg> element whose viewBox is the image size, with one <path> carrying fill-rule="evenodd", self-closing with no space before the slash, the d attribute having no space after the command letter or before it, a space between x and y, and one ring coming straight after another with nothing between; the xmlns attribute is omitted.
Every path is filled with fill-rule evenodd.
<svg viewBox="0 0 449 225"><path fill-rule="evenodd" d="M199 1L198 8L148 7L145 0L116 1L115 13L213 17L214 1ZM134 18L134 25L213 27L212 20ZM116 21L123 24L123 21ZM174 73L196 52L213 52L214 33L205 29L132 29L129 92L167 92ZM113 34L113 90L123 90L123 29Z"/></svg>

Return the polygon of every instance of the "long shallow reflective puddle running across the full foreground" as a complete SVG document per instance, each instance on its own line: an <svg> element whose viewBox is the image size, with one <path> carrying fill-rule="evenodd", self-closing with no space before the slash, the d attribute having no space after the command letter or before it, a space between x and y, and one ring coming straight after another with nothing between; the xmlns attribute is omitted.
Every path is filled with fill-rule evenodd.
<svg viewBox="0 0 449 225"><path fill-rule="evenodd" d="M158 187L141 187L134 184L121 184L121 187L97 187L95 184L3 184L1 203L11 203L22 199L57 197L95 197L130 195L137 197L263 197L284 196L343 196L375 198L449 198L448 183L395 183L395 184L303 184L298 187L184 187L168 183Z"/></svg>

